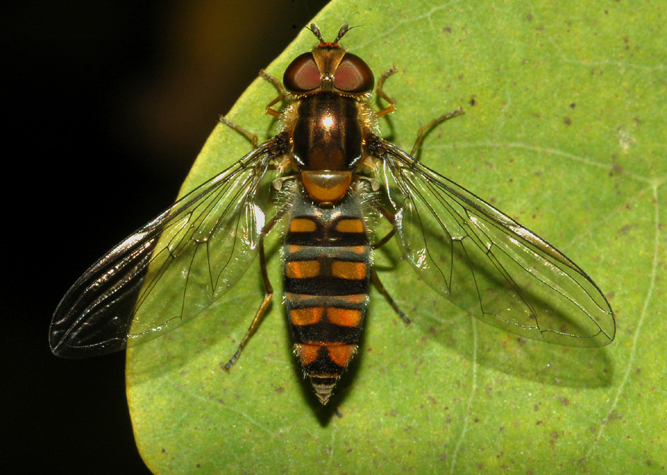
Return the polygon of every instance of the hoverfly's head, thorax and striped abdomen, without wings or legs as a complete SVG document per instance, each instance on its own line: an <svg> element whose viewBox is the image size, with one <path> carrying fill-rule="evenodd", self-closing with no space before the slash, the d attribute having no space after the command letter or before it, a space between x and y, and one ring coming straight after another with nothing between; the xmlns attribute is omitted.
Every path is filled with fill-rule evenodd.
<svg viewBox="0 0 667 475"><path fill-rule="evenodd" d="M356 353L371 274L353 181L371 133L366 99L374 79L338 40L320 37L311 53L292 61L283 80L297 97L286 130L301 176L284 242L285 303L294 351L323 404Z"/></svg>

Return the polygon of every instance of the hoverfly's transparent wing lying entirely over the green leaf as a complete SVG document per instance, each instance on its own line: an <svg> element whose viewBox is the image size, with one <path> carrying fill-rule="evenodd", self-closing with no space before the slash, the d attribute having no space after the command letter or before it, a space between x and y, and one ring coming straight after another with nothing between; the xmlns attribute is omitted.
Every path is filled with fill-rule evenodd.
<svg viewBox="0 0 667 475"><path fill-rule="evenodd" d="M377 139L400 245L435 291L509 332L573 347L615 335L595 282L547 241L481 198Z"/></svg>

